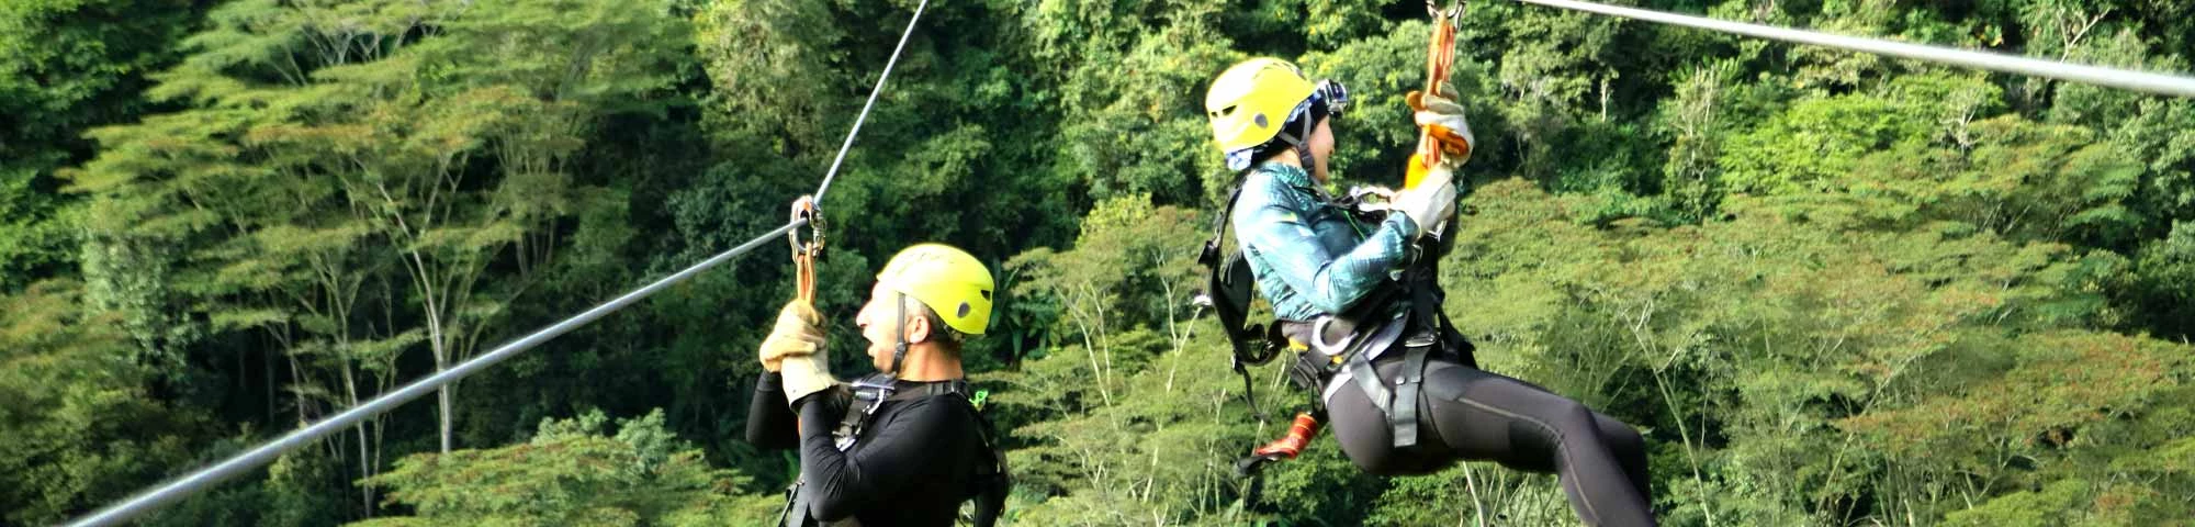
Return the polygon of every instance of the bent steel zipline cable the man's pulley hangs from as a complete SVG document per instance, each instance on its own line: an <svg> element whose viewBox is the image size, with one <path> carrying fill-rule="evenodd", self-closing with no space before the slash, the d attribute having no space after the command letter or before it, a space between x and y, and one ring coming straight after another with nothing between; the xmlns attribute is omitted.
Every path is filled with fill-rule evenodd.
<svg viewBox="0 0 2195 527"><path fill-rule="evenodd" d="M928 0L922 0L920 4L915 4L915 15L907 20L907 31L900 33L900 44L896 48L891 48L891 59L885 61L885 72L876 77L876 88L869 90L869 103L865 103L860 108L860 116L856 116L852 130L845 132L845 143L838 147L838 160L845 160L845 152L849 147L854 147L854 136L860 134L860 125L869 116L869 105L874 105L876 103L876 94L885 90L885 77L889 77L891 75L891 66L900 61L900 51L907 48L907 40L909 40L909 35L915 33L915 22L922 20L922 9L926 9L928 4L931 4ZM817 200L823 198L823 191L830 189L832 178L838 176L838 160L832 160L830 171L823 173L823 184L817 187L817 193L814 193ZM257 468L261 468L266 463L272 463L274 459L279 459L281 455L285 455L290 450L299 450L299 448L312 446L312 441L318 441L318 439L336 435L336 433L340 433L345 428L358 426L367 417L393 411L397 406L404 406L406 402L413 402L417 397L426 397L428 393L435 393L435 391L439 391L439 389L443 389L443 386L448 386L448 384L452 384L457 380L463 380L463 378L468 378L472 373L481 373L483 369L494 367L496 362L503 362L503 360L507 360L511 356L518 356L520 351L533 349L540 343L549 343L549 338L558 338L562 334L569 334L571 329L579 329L582 325L588 325L595 318L608 316L610 312L623 310L623 307L628 307L628 305L632 305L632 303L637 303L641 299L648 299L650 294L663 292L669 285L676 285L680 281L694 279L702 270L716 268L716 266L720 266L724 261L731 261L731 259L735 259L740 255L746 255L748 250L759 248L764 242L773 242L773 239L777 239L781 235L788 235L795 228L801 228L801 226L808 226L808 224L810 224L810 220L806 220L806 217L797 217L792 222L786 222L784 226L770 228L768 233L762 233L762 235L757 235L753 239L746 239L744 244L740 244L740 246L735 246L731 250L718 253L716 257L702 259L700 264L694 264L694 266L689 266L685 270L672 272L669 277L656 279L654 283L641 285L639 290L626 292L626 294L621 294L617 299L610 299L606 303L588 307L586 312L579 312L579 314L575 314L571 318L553 323L549 327L542 327L542 329L538 329L533 334L520 336L518 340L505 343L505 345L500 345L496 349L489 349L487 354L481 354L481 356L476 356L472 360L459 362L457 367L437 371L435 375L415 380L415 382L404 384L402 389L395 389L391 393L382 393L380 397L367 400L367 402L362 402L358 406L351 406L351 408L347 408L342 413L336 413L336 415L331 415L327 419L314 422L314 424L309 424L305 428L290 430L290 433L285 433L285 435L272 439L272 441L266 441L266 444L261 444L261 446L257 446L252 450L246 450L241 455L222 459L219 463L200 468L200 470L195 470L191 474L184 474L184 476L178 476L178 479L169 479L167 483L160 483L156 487L143 490L136 496L130 496L127 501L101 507L99 512L92 512L92 514L88 514L83 518L77 518L77 520L68 523L68 525L70 527L123 525L123 523L127 523L127 520L132 520L136 516L145 516L147 512L154 512L158 507L171 505L171 503L182 501L182 498L187 498L191 494L198 494L198 492L204 492L204 490L209 490L213 485L219 485L222 481L235 479L235 476L239 476L244 472L250 472L250 470L257 470Z"/></svg>

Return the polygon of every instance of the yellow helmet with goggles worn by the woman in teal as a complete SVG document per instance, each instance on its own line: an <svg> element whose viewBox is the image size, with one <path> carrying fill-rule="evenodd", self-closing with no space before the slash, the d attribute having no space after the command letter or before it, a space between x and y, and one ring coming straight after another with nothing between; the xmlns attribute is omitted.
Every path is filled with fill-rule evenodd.
<svg viewBox="0 0 2195 527"><path fill-rule="evenodd" d="M1258 147L1273 143L1304 112L1339 116L1343 105L1348 90L1341 83L1313 83L1295 64L1269 57L1229 66L1205 90L1205 119L1212 121L1212 138L1227 154L1227 169L1247 169ZM1293 145L1304 136L1308 130L1286 141Z"/></svg>

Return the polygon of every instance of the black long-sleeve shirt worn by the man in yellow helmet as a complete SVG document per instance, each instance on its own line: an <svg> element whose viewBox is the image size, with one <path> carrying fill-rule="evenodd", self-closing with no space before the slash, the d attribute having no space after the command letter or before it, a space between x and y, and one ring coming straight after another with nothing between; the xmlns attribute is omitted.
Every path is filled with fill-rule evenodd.
<svg viewBox="0 0 2195 527"><path fill-rule="evenodd" d="M902 393L920 393L920 382L900 382ZM887 400L869 417L860 439L841 452L832 430L845 419L852 393L845 389L784 404L784 380L755 380L746 441L759 448L801 448L801 494L819 520L858 518L863 525L953 525L983 439L961 395ZM795 411L799 430L795 433Z"/></svg>

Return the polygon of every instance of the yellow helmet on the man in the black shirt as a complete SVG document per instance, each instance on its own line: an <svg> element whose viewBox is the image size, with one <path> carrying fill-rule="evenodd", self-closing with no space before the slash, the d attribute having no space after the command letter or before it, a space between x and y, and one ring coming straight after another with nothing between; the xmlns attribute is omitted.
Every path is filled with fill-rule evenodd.
<svg viewBox="0 0 2195 527"><path fill-rule="evenodd" d="M983 334L990 327L990 268L966 250L946 244L915 244L885 264L876 281L889 290L915 296L937 318L961 334Z"/></svg>

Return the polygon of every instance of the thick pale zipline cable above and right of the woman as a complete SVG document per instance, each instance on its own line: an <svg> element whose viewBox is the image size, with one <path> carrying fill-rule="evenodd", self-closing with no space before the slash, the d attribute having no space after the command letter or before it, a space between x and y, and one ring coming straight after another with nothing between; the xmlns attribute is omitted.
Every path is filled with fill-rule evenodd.
<svg viewBox="0 0 2195 527"><path fill-rule="evenodd" d="M2028 59L2028 57L2013 57L2013 55L1982 53L1982 51L1962 51L1962 48L1888 42L1870 37L1846 37L1817 31L1802 31L1802 29L1780 29L1780 26L1745 24L1745 22L1712 20L1697 15L1677 15L1651 9L1611 7L1583 0L1517 0L1517 2L1706 29L1706 31L1738 33L1747 37L1782 40L1782 42L1921 59L1921 61L1940 61L1940 64L1997 70L1997 72L2017 72L2017 75L2048 77L2061 81L2109 86L2109 88L2151 92L2151 94L2195 97L2195 79L2182 75L2138 72L2138 70L2120 70L2103 66L2081 66L2068 61Z"/></svg>

